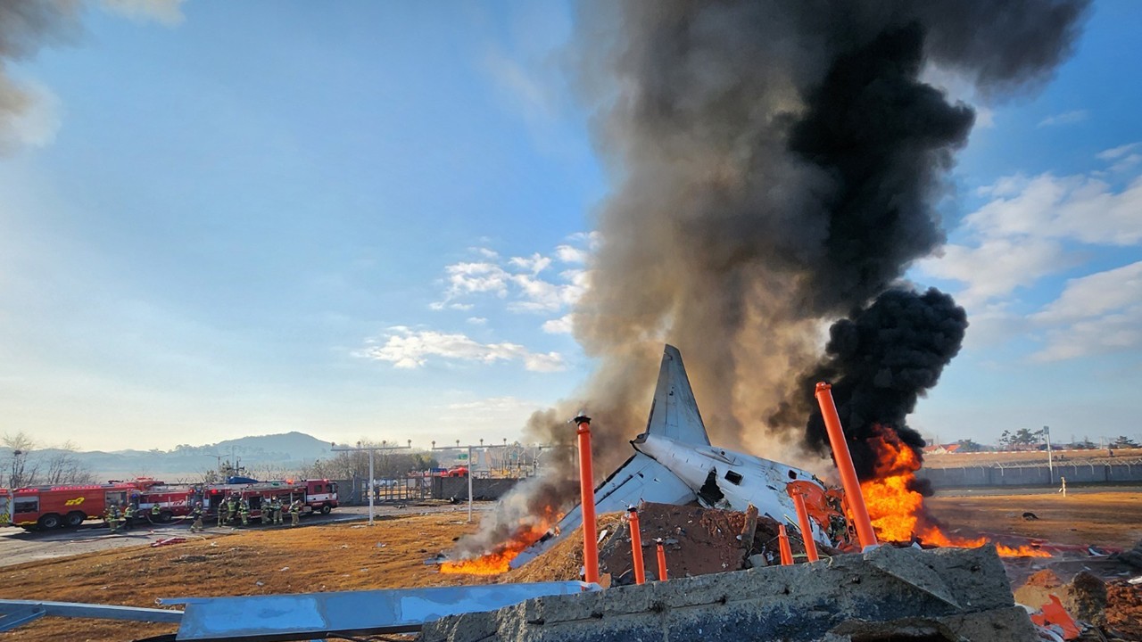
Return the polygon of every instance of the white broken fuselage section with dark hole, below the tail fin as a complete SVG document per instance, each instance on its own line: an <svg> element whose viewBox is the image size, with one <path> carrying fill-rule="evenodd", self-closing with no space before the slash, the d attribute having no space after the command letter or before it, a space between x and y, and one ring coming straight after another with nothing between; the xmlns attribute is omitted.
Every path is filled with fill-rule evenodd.
<svg viewBox="0 0 1142 642"><path fill-rule="evenodd" d="M758 514L769 515L786 525L797 524L797 508L786 490L790 481L799 480L825 488L812 473L753 455L711 446L683 443L654 434L643 434L633 442L635 450L670 470L698 493L699 501L717 506L717 495L734 511L746 511L753 504ZM710 487L710 471L714 471ZM833 543L813 523L813 539Z"/></svg>

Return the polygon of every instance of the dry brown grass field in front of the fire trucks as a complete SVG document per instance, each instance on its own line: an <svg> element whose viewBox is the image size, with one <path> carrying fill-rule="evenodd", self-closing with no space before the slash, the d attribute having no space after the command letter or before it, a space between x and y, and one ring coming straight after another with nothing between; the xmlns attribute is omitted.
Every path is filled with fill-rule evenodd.
<svg viewBox="0 0 1142 642"><path fill-rule="evenodd" d="M154 607L158 597L361 591L482 584L425 560L475 530L449 515L362 525L244 531L151 548L120 548L3 569L0 599ZM384 547L378 547L384 544ZM132 640L169 625L46 618L8 640Z"/></svg>

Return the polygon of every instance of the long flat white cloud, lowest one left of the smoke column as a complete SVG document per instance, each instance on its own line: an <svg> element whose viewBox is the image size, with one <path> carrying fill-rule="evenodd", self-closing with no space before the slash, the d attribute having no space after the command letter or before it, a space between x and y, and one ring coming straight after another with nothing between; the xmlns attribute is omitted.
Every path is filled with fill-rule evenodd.
<svg viewBox="0 0 1142 642"><path fill-rule="evenodd" d="M532 353L518 344L481 344L465 335L412 330L403 326L389 328L385 344L367 348L363 355L404 369L420 368L431 356L483 363L523 361L524 368L533 372L564 368L563 358L555 352Z"/></svg>

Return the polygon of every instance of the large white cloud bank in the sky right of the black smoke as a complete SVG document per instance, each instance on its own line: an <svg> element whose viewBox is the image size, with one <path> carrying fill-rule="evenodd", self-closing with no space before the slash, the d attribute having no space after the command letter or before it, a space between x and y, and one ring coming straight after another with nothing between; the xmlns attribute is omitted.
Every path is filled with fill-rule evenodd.
<svg viewBox="0 0 1142 642"><path fill-rule="evenodd" d="M1099 158L1124 162L1136 146ZM1142 262L1071 279L1057 299L1030 314L1004 298L1081 266L1099 246L1142 244L1142 176L1116 185L1100 175L1016 175L981 187L989 201L964 219L966 240L917 264L965 284L956 296L972 311L972 345L1029 336L1043 342L1034 361L1142 347Z"/></svg>

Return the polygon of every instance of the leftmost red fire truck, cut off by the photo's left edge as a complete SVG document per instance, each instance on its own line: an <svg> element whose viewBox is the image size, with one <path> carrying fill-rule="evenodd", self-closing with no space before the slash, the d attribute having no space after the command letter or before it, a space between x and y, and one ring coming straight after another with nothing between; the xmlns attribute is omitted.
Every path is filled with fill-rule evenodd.
<svg viewBox="0 0 1142 642"><path fill-rule="evenodd" d="M48 530L74 528L100 519L108 504L126 506L131 496L161 484L152 479L102 484L0 489L0 525Z"/></svg>

